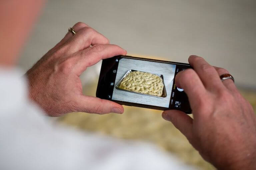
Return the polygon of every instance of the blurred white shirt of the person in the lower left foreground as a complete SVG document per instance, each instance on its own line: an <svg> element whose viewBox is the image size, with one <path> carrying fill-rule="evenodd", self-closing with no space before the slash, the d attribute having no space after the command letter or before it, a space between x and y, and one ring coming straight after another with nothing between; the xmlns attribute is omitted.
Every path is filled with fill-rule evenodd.
<svg viewBox="0 0 256 170"><path fill-rule="evenodd" d="M193 169L151 144L53 124L28 100L17 70L0 69L1 170Z"/></svg>

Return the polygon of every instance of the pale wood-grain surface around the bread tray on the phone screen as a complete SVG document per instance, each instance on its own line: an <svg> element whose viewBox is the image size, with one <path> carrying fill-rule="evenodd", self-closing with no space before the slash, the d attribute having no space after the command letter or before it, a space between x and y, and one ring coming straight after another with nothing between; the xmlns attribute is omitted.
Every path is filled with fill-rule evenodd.
<svg viewBox="0 0 256 170"><path fill-rule="evenodd" d="M131 69L149 72L149 73L162 74L164 77L164 84L165 84L167 96L165 98L160 98L160 97L138 94L138 93L133 93L133 92L124 91L124 90L118 90L114 88L112 99L119 100L119 101L132 102L132 103L152 105L152 106L169 107L175 68L176 68L176 65L173 65L173 64L122 58L119 61L119 65L116 73L117 75L115 80L115 86L124 76L124 74Z"/></svg>

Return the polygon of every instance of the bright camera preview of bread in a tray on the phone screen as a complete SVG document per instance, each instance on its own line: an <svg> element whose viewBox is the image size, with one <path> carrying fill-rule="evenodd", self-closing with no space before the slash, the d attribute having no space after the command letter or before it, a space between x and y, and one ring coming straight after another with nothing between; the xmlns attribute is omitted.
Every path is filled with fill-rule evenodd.
<svg viewBox="0 0 256 170"><path fill-rule="evenodd" d="M176 64L132 58L116 61L112 100L169 107Z"/></svg>

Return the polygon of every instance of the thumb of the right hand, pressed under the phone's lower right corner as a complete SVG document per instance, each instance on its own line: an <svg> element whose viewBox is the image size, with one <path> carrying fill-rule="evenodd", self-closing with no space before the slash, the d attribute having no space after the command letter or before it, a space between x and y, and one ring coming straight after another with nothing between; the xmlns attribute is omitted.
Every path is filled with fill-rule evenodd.
<svg viewBox="0 0 256 170"><path fill-rule="evenodd" d="M187 138L191 137L193 119L186 113L179 110L167 110L162 113L162 117L170 121Z"/></svg>

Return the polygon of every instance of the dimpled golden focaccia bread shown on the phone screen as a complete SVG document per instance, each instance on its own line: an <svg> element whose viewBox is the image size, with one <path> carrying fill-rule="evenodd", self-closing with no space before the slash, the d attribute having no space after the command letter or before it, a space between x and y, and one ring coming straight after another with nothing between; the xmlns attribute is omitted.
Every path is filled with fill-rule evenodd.
<svg viewBox="0 0 256 170"><path fill-rule="evenodd" d="M162 96L164 84L162 78L155 74L132 71L124 77L119 88L153 96Z"/></svg>

